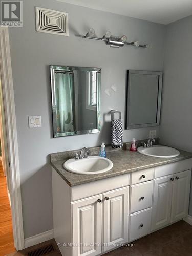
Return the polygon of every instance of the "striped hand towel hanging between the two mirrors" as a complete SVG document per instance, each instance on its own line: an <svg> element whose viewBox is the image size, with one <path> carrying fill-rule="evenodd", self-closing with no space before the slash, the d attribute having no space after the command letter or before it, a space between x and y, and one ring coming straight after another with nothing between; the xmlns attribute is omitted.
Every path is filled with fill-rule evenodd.
<svg viewBox="0 0 192 256"><path fill-rule="evenodd" d="M111 120L111 146L113 148L123 145L123 125L121 119Z"/></svg>

